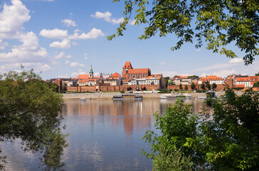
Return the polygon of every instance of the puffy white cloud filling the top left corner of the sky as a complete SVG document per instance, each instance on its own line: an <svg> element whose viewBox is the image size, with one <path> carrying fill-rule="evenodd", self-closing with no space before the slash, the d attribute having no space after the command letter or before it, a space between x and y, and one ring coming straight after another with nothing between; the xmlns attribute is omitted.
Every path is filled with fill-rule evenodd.
<svg viewBox="0 0 259 171"><path fill-rule="evenodd" d="M11 5L4 4L0 13L0 39L18 38L18 31L23 23L29 21L30 11L19 0L11 0Z"/></svg>

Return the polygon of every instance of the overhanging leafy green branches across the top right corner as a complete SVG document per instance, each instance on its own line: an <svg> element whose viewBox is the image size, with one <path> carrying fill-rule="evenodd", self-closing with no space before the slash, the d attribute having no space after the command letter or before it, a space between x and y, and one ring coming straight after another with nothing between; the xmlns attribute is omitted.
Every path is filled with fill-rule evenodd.
<svg viewBox="0 0 259 171"><path fill-rule="evenodd" d="M113 0L120 1L120 0ZM133 16L135 25L145 24L139 39L151 38L158 34L164 37L174 33L179 41L171 50L181 48L184 43L196 43L196 48L206 43L206 49L236 58L236 53L228 49L230 43L236 43L240 51L245 52L245 65L254 61L259 48L259 4L256 0L125 0L124 21L117 33L108 36L123 36L129 19Z"/></svg>

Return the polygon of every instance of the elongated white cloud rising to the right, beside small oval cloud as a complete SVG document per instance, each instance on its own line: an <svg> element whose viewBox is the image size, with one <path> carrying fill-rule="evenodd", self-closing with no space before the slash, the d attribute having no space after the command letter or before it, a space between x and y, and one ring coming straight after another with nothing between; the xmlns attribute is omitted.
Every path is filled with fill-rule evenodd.
<svg viewBox="0 0 259 171"><path fill-rule="evenodd" d="M79 34L78 32L75 32L74 35L69 36L69 39L95 39L99 36L105 36L105 33L102 33L102 30L97 29L97 28L93 28L91 31L89 31L88 33L81 33Z"/></svg>

